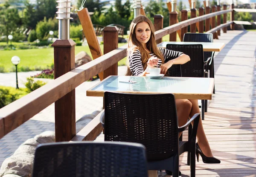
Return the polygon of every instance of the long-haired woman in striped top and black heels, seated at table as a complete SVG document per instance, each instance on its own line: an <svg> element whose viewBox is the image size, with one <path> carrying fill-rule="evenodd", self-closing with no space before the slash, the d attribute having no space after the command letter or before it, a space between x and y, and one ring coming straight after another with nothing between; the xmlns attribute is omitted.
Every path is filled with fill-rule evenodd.
<svg viewBox="0 0 256 177"><path fill-rule="evenodd" d="M168 62L166 58L177 57ZM154 37L154 26L145 16L134 18L130 25L128 38L128 71L126 75L145 76L148 68L157 66L161 68L161 74L166 74L173 64L185 64L190 61L188 55L169 49L158 48ZM177 117L179 126L185 125L188 117L200 113L198 100L176 99ZM202 120L199 120L197 132L196 155L201 155L204 163L220 163L212 156L207 137L204 133Z"/></svg>

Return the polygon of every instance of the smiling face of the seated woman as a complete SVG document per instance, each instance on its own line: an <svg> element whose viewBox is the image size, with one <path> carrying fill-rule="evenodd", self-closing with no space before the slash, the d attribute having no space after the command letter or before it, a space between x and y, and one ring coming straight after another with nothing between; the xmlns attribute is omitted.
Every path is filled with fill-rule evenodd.
<svg viewBox="0 0 256 177"><path fill-rule="evenodd" d="M151 35L151 29L147 22L140 22L135 28L136 39L143 45L148 42Z"/></svg>

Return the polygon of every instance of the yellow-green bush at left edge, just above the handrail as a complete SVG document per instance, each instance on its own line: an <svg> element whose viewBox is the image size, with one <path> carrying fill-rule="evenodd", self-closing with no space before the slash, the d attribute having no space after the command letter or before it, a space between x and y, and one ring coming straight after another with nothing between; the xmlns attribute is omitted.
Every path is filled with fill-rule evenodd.
<svg viewBox="0 0 256 177"><path fill-rule="evenodd" d="M0 108L14 102L15 100L19 99L20 97L26 95L23 88L19 90L13 87L0 87Z"/></svg>

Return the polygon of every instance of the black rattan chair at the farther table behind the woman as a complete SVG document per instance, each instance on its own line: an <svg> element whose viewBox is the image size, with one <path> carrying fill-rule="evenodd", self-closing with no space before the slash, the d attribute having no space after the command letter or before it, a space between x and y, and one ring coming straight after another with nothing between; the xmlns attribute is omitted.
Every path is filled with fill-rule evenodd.
<svg viewBox="0 0 256 177"><path fill-rule="evenodd" d="M184 42L213 42L212 33L185 33ZM215 52L204 52L204 61L209 61L206 64L205 70L210 71L210 78L214 78L214 53ZM215 89L213 89L213 93L215 93ZM207 107L205 107L207 112Z"/></svg>

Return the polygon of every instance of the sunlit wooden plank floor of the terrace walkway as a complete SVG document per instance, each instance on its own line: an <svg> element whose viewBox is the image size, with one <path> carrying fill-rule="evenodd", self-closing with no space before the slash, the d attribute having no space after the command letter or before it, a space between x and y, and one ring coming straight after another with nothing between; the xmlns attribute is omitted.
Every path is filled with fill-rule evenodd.
<svg viewBox="0 0 256 177"><path fill-rule="evenodd" d="M256 177L255 39L256 32L227 31L215 40L226 46L215 53L215 94L203 124L212 153L221 163L204 164L200 157L196 177ZM186 157L186 153L180 156L182 177L190 174ZM159 177L169 175L162 171Z"/></svg>

